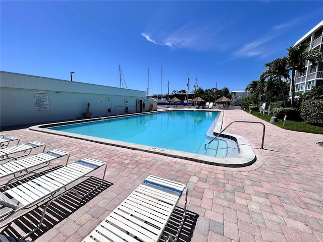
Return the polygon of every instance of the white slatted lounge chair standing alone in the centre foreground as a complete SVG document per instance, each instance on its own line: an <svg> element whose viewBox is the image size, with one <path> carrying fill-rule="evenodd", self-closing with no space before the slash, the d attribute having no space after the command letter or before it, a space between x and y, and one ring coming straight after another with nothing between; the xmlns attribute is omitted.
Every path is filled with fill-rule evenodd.
<svg viewBox="0 0 323 242"><path fill-rule="evenodd" d="M175 235L164 230L186 190L184 214ZM185 185L157 176L148 176L83 241L177 241L186 216L188 191Z"/></svg>

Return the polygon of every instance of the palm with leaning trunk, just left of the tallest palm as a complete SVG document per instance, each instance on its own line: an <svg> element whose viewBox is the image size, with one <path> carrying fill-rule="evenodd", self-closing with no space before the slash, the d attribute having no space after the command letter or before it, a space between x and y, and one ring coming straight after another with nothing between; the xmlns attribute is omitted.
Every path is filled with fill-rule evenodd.
<svg viewBox="0 0 323 242"><path fill-rule="evenodd" d="M286 57L274 59L274 61L264 64L267 68L265 72L260 75L260 82L264 82L266 79L274 79L278 81L279 87L283 94L284 106L287 107L287 99L285 94L285 89L283 85L283 80L289 80L288 71L288 59Z"/></svg>

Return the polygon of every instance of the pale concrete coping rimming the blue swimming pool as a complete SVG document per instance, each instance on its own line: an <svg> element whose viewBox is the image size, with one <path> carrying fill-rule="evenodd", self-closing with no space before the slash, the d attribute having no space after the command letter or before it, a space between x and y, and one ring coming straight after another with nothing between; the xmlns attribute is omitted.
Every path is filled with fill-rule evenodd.
<svg viewBox="0 0 323 242"><path fill-rule="evenodd" d="M156 112L167 112L167 111L180 111L179 109L168 109L168 110L158 110L154 112L149 112L149 114L154 114ZM188 109L182 109L182 110L188 110ZM199 110L190 108L189 111L191 112L204 112L205 110ZM210 110L211 111L211 110ZM212 110L215 111L215 110ZM105 139L105 138L99 138L89 135L80 135L80 134L74 134L70 132L64 132L64 131L57 131L52 130L50 128L52 127L58 127L63 125L71 125L71 124L80 124L80 123L87 123L89 121L103 121L106 119L115 119L120 117L129 117L129 116L141 116L145 115L144 113L131 113L131 114L123 114L118 116L106 116L106 117L95 117L91 119L76 119L76 120L70 120L66 122L59 122L59 123L49 123L49 124L42 124L42 125L36 125L29 127L29 130L36 131L36 132L43 132L48 133L52 135L59 135L59 136L65 136L70 137L72 139L82 139L94 143L100 143L110 146L116 146L121 148L126 148L129 150L129 152L132 152L132 150L136 150L139 152L150 152L155 153L158 155L164 155L164 156L171 156L174 158L181 158L185 160L200 162L204 164L210 164L210 165L218 165L218 166L227 166L227 167L244 167L253 164L256 161L256 155L248 142L244 137L238 136L235 134L229 134L229 133L222 133L221 139L224 139L228 141L227 143L227 150L228 154L226 157L216 157L210 154L206 154L209 152L214 152L212 149L212 145L207 146L207 149L205 150L204 147L200 147L200 149L203 149L203 152L205 154L198 154L198 153L192 153L192 152L184 152L184 151L178 151L173 149L163 149L158 148L154 146L147 146L147 145L140 145L136 143L129 143L129 142L123 142L118 140L112 140L112 139ZM214 134L218 134L222 130L222 124L224 119L224 111L220 110L219 115L216 117L217 122L213 122L213 125L210 125L209 129L207 130L206 134L209 137L214 137ZM132 128L133 129L133 128ZM207 138L209 139L209 138ZM212 142L211 144L213 144ZM232 147L231 147L232 146ZM68 147L67 147L68 148ZM233 152L230 152L233 151Z"/></svg>

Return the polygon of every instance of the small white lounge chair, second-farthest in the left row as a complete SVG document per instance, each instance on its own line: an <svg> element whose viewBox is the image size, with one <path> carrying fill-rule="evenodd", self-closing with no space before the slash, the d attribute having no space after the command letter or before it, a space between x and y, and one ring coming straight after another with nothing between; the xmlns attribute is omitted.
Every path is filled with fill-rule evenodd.
<svg viewBox="0 0 323 242"><path fill-rule="evenodd" d="M28 142L23 145L15 145L11 147L7 147L4 149L0 149L0 161L6 160L6 159L17 159L23 156L27 156L31 153L31 150L40 146L44 146L42 152L44 152L46 145L44 143L40 143L38 141ZM29 152L28 152L29 151ZM11 155L14 155L16 153L22 153L22 155L18 157L11 157Z"/></svg>

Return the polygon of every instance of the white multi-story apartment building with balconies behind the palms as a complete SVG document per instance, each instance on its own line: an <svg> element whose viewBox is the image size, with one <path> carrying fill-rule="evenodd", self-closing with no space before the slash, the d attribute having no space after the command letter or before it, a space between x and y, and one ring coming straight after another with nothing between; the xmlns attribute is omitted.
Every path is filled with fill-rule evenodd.
<svg viewBox="0 0 323 242"><path fill-rule="evenodd" d="M323 50L323 21L312 28L307 34L300 38L294 46L300 46L302 44L309 44L308 50L321 49ZM308 92L313 87L323 86L323 63L320 63L315 68L307 61L305 73L295 73L295 98L298 94ZM290 96L292 95L292 89L290 88Z"/></svg>

